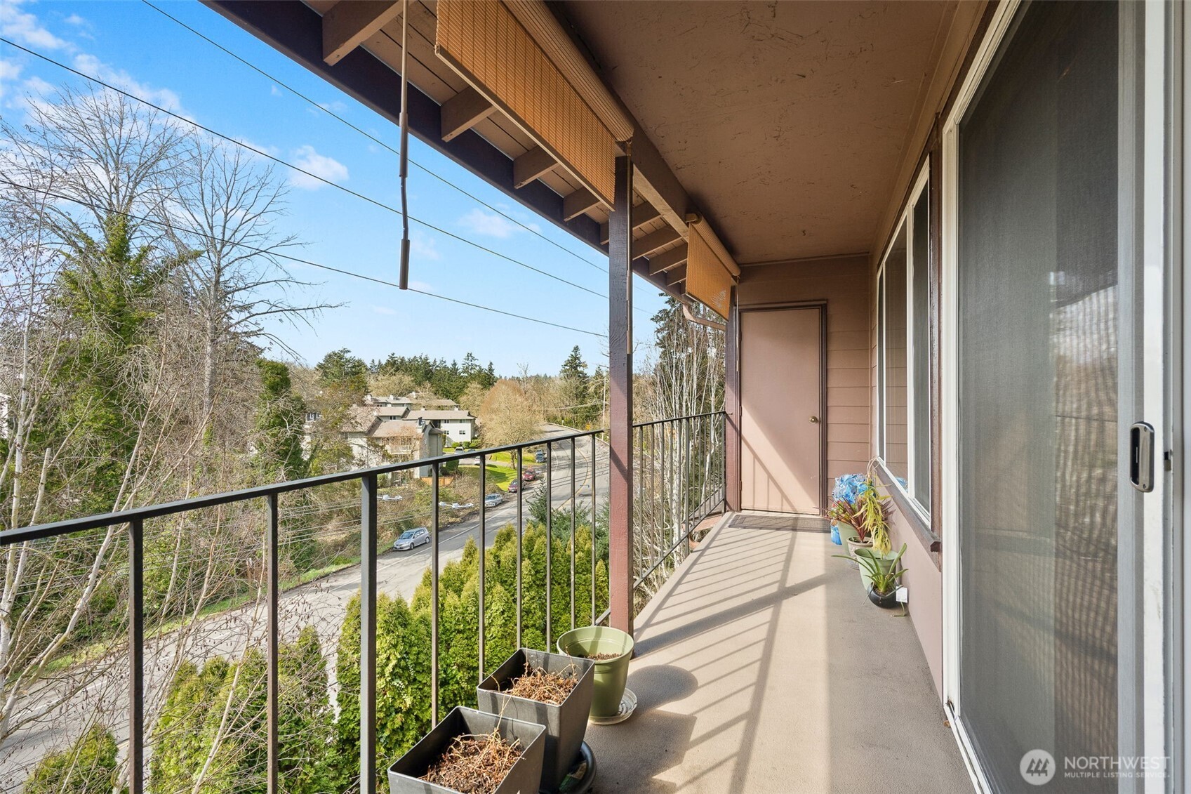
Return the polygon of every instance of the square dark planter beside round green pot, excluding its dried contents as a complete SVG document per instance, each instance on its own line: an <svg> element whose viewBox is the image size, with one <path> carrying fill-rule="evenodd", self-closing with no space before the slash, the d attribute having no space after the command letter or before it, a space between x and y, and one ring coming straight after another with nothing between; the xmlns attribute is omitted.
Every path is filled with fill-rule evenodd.
<svg viewBox="0 0 1191 794"><path fill-rule="evenodd" d="M542 668L547 672L565 674L573 669L579 683L559 705L510 695L505 690L513 678L525 672L526 663L530 669ZM579 746L587 731L587 714L592 707L594 669L596 663L591 659L523 647L475 688L475 701L480 711L545 726L541 783L544 790L556 790L579 757Z"/></svg>

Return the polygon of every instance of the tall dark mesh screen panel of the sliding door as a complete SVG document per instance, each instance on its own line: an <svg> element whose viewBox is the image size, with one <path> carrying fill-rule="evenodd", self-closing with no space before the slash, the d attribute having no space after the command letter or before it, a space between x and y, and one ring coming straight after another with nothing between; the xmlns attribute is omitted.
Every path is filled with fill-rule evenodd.
<svg viewBox="0 0 1191 794"><path fill-rule="evenodd" d="M1118 6L1018 13L956 174L962 719L997 790L1117 753Z"/></svg>

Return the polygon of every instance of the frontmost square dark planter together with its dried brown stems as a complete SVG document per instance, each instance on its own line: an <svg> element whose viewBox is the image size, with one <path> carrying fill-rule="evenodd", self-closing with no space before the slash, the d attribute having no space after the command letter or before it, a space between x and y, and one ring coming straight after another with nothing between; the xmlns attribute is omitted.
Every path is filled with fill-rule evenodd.
<svg viewBox="0 0 1191 794"><path fill-rule="evenodd" d="M545 728L456 706L388 768L391 794L537 792ZM453 787L453 781L460 781ZM463 788L463 783L467 787Z"/></svg>

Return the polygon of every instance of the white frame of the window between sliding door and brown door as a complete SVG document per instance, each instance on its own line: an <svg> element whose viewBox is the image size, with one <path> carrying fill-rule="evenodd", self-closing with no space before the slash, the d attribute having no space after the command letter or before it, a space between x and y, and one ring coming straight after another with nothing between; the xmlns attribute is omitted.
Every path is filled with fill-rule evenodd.
<svg viewBox="0 0 1191 794"><path fill-rule="evenodd" d="M934 240L930 223L930 194L931 194L931 180L930 180L930 163L929 161L923 163L922 168L918 170L918 175L913 180L913 187L906 198L905 204L902 206L902 211L897 216L897 222L893 224L893 229L890 232L888 241L885 243L885 249L881 252L880 265L877 267L877 454L874 455L875 461L881 467L881 473L885 476L886 484L890 489L894 489L898 496L902 497L909 504L913 511L917 514L917 519L927 527L930 527L930 504L923 504L915 496L916 482L915 482L915 463L917 460L916 455L919 453L917 448L917 435L918 427L916 420L916 408L917 401L924 399L927 402L927 449L928 465L927 465L927 477L931 477L934 471L933 455L931 455L931 438L930 438L930 403L931 403L931 380L928 370L927 376L927 391L924 395L916 395L913 390L915 383L915 352L917 345L924 345L927 348L927 361L928 367L930 362L930 290L933 279L930 277L930 262L931 262L931 241ZM925 256L922 262L916 261L913 255L913 209L919 200L927 201L927 250ZM905 411L906 411L906 485L903 488L898 482L897 477L890 470L888 464L885 459L885 443L888 439L887 426L888 426L888 405L886 399L886 384L888 378L885 371L885 346L888 339L887 329L885 324L888 322L888 311L886 309L886 292L888 290L888 279L885 273L885 265L888 262L890 254L893 252L893 246L897 243L898 237L904 232L905 235ZM913 317L913 275L917 267L927 268L927 334L925 339L916 339L915 336L915 317ZM929 483L928 483L929 485ZM929 500L928 500L929 502Z"/></svg>

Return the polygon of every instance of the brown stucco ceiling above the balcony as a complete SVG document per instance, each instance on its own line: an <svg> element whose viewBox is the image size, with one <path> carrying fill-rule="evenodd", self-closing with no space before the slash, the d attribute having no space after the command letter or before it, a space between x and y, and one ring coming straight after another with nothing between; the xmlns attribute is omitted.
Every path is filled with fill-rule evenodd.
<svg viewBox="0 0 1191 794"><path fill-rule="evenodd" d="M741 262L867 252L949 2L569 0Z"/></svg>

